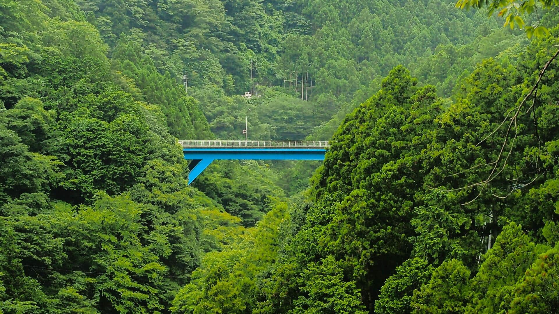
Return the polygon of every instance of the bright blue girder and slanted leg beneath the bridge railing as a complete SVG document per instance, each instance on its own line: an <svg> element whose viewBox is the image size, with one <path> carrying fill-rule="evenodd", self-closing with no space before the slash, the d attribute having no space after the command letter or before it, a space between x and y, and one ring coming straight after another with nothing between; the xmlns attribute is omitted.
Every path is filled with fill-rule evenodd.
<svg viewBox="0 0 559 314"><path fill-rule="evenodd" d="M183 153L184 159L192 160L188 165L190 184L216 159L324 160L326 149L183 148Z"/></svg>

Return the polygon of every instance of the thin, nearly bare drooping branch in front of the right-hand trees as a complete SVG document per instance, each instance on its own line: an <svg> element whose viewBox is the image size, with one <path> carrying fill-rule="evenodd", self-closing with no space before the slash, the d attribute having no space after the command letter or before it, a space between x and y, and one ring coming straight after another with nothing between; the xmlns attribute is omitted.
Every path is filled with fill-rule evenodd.
<svg viewBox="0 0 559 314"><path fill-rule="evenodd" d="M554 46L554 47L555 47L555 46ZM481 193L482 193L482 192L484 191L484 189L487 187L487 184L489 184L492 180L494 180L494 179L495 179L499 174L501 174L501 173L503 172L503 170L505 169L506 164L507 164L507 161L508 161L508 159L509 159L509 156L510 156L510 154L511 154L512 151L513 151L514 142L516 141L517 136L518 136L517 118L518 118L518 115L520 114L520 110L522 110L522 107L525 105L525 103L528 101L528 99L530 99L530 97L531 97L531 99L532 99L532 106L530 106L530 107L528 108L528 110L526 111L526 113L529 113L530 110L532 110L532 109L534 109L534 111L536 110L535 106L536 106L536 102L537 102L537 93L538 93L539 83L541 82L541 80L542 80L542 78L543 78L543 74L546 73L547 68L549 68L549 65L551 65L551 63L553 62L553 60L555 60L555 58L557 58L558 55L559 55L559 50L557 50L557 52L551 57L551 59L549 59L549 60L546 62L546 64L543 66L542 70L539 72L538 79L536 80L536 84L534 84L534 86L532 87L532 89L530 90L530 92L524 97L524 99L522 99L522 102L520 102L520 104L519 104L517 107L514 107L514 108L512 108L511 110L509 110L509 111L506 113L506 116L505 116L503 122L501 122L501 124L500 124L498 127L496 127L495 130L493 130L489 135L487 135L484 139L482 139L479 143L476 144L476 146L479 146L482 142L484 142L485 140L487 140L491 135L493 135L493 134L495 134L495 132L499 131L499 130L501 129L501 127L503 127L503 125L505 125L505 122L506 122L507 120L509 120L509 126L508 126L508 128L506 129L505 139L504 139L504 141L503 141L503 145L501 145L501 149L500 149L500 151L499 151L499 155L497 156L497 158L495 159L495 161L493 161L493 162L491 162L491 163L476 165L476 166L473 166L473 167L470 168L470 169L467 169L467 170L464 170L464 171L462 171L462 172L458 172L458 173L455 173L455 174L452 174L452 175L447 176L447 177L451 177L451 176L453 176L453 175L457 175L457 174L460 174L460 173L464 173L464 172L467 172L467 171L469 171L469 170L475 169L475 168L477 168L477 167L479 167L479 166L494 165L494 166L493 166L493 169L491 169L491 172L489 173L489 175L487 176L487 178L486 178L485 180L483 180L483 181L481 181L481 182L476 182L476 183L467 185L466 187L461 187L461 188L456 188L456 189L449 189L449 190L447 190L447 191L457 191L457 190L472 188L472 187L476 187L476 186L481 185L480 191L479 191L479 193L477 194L477 196L474 197L473 199L471 199L471 201L468 201L468 202L466 202L466 203L463 203L462 205L469 204L469 203L475 201L477 198L479 198L479 197L481 196ZM513 115L512 117L509 118L509 116L510 116L510 114L511 114L512 112L514 112L514 115ZM536 121L536 120L537 120L537 119L536 119L536 116L534 115L534 121ZM537 122L536 122L536 123L537 123ZM514 135L511 135L511 132L510 132L510 131L513 130L513 127L514 127ZM537 125L536 125L536 132L537 132ZM510 149L508 150L508 153L506 154L506 157L503 157L503 153L505 152L505 147L506 147L506 145L509 143L509 137L510 137L510 136L512 136L511 139L510 139ZM540 145L539 145L539 149L541 149L541 140L539 139L539 135L537 135L537 137L538 137L538 141L539 141L539 144L540 144ZM504 158L504 159L503 159L503 158ZM537 157L537 158L538 158L538 159L536 160L536 163L538 163L538 161L539 161L539 151L538 151L538 157ZM503 166L502 166L500 169L498 169L499 163L500 163L501 161L504 161L504 162L503 162ZM537 175L536 175L536 178L534 178L531 182L529 182L528 184L524 184L524 185L522 185L522 186L524 187L524 186L526 186L526 185L529 185L529 184L533 183L536 179L537 179ZM515 188L517 187L517 183L518 183L518 174L517 174L517 178L516 178L516 179L511 179L511 180L514 180L514 181L515 181L515 184L514 184L513 188L511 188L510 193L508 193L508 194L507 194L506 196L504 196L504 197L497 196L497 195L495 195L495 194L493 194L493 196L499 197L499 198L506 198L506 197L510 196L510 194L512 194L513 191L515 190Z"/></svg>

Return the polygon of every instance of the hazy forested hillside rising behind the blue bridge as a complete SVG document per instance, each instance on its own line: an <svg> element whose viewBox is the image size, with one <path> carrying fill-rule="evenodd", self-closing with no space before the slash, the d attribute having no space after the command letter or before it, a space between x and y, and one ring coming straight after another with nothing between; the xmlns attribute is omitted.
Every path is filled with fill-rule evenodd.
<svg viewBox="0 0 559 314"><path fill-rule="evenodd" d="M517 58L525 38L501 30L496 19L440 0L77 3L110 55L125 34L160 73L179 83L188 73L188 93L219 139L243 137L249 108L252 139L302 139L354 97L357 104L370 97L398 64L440 82L448 96L482 58L505 49L513 51L503 58ZM245 91L264 99L236 97Z"/></svg>

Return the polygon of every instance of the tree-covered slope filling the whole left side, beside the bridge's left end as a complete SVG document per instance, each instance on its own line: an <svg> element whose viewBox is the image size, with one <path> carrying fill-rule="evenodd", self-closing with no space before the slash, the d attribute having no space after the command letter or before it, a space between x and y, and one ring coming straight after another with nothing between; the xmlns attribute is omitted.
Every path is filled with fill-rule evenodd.
<svg viewBox="0 0 559 314"><path fill-rule="evenodd" d="M114 68L72 2L0 7L0 312L167 311L239 219L188 187L173 104Z"/></svg>

